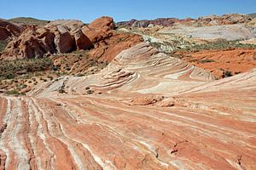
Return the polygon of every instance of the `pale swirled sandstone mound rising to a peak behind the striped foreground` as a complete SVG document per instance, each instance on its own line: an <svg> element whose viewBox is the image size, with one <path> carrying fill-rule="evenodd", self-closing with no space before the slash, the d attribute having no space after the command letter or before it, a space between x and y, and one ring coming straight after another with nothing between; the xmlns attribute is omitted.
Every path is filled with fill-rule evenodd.
<svg viewBox="0 0 256 170"><path fill-rule="evenodd" d="M97 75L66 79L65 90L68 94L84 94L86 87L94 91L115 94L179 94L215 80L215 77L181 59L158 53L155 48L143 42L121 52ZM63 79L37 87L36 94L52 95L52 89L61 88L61 81ZM38 89L42 89L40 93Z"/></svg>

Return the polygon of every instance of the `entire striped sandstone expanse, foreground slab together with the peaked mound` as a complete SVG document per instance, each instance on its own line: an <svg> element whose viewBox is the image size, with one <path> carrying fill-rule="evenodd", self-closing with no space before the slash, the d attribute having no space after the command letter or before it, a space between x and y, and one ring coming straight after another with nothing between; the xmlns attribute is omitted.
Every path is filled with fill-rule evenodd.
<svg viewBox="0 0 256 170"><path fill-rule="evenodd" d="M97 75L2 96L0 168L255 169L256 71L213 79L142 43ZM67 95L86 87L102 94Z"/></svg>

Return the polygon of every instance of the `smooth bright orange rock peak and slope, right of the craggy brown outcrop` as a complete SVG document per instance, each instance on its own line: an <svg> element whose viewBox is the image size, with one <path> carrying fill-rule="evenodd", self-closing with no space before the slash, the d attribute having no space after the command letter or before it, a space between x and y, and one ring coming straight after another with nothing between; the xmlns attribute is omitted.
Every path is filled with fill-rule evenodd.
<svg viewBox="0 0 256 170"><path fill-rule="evenodd" d="M93 58L110 62L121 51L143 41L138 35L113 29L113 19L106 16L82 28L84 34L94 43L95 48L90 51Z"/></svg>

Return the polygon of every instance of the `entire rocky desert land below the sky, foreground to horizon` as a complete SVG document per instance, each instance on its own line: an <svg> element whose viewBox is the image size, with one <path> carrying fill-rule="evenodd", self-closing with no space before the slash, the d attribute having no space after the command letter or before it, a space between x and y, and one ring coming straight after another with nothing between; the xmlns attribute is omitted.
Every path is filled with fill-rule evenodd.
<svg viewBox="0 0 256 170"><path fill-rule="evenodd" d="M253 20L128 24L1 20L0 169L255 169Z"/></svg>

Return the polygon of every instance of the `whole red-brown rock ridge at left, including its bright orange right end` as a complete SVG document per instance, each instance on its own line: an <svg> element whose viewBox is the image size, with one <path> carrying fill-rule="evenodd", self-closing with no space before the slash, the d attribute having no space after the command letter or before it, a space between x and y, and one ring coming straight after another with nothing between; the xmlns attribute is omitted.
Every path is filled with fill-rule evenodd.
<svg viewBox="0 0 256 170"><path fill-rule="evenodd" d="M1 59L24 59L91 49L100 61L111 61L122 50L131 48L142 37L114 31L113 19L102 17L86 26L79 20L54 20L44 27L28 26L20 37L9 42Z"/></svg>

